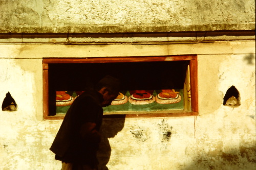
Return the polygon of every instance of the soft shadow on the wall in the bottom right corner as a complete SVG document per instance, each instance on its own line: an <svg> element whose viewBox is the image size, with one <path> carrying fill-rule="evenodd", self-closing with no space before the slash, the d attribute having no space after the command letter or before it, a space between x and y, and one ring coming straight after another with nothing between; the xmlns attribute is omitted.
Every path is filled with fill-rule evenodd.
<svg viewBox="0 0 256 170"><path fill-rule="evenodd" d="M224 153L215 150L208 153L201 152L193 161L186 164L181 170L219 170L219 169L256 169L256 149L253 147L240 147Z"/></svg>

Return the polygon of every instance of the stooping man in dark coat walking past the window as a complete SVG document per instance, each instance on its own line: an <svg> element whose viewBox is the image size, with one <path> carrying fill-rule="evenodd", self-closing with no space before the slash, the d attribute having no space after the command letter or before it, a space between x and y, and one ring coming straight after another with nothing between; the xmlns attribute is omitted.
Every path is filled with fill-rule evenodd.
<svg viewBox="0 0 256 170"><path fill-rule="evenodd" d="M119 86L118 79L106 76L73 102L50 148L62 170L97 169L102 107L117 97Z"/></svg>

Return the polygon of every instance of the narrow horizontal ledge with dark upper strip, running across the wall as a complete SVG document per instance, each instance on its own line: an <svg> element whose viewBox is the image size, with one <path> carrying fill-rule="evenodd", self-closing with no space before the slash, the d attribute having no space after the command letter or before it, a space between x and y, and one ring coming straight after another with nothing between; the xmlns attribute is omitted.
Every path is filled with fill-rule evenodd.
<svg viewBox="0 0 256 170"><path fill-rule="evenodd" d="M0 43L181 43L255 40L254 31L168 32L168 33L61 33L0 34Z"/></svg>

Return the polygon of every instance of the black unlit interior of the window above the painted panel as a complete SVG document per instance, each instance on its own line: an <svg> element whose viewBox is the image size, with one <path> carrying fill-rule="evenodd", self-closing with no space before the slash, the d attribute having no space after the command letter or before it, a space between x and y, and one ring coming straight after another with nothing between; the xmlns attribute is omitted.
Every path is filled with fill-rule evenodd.
<svg viewBox="0 0 256 170"><path fill-rule="evenodd" d="M83 91L105 75L121 90L183 89L189 61L49 64L49 115L56 114L56 91Z"/></svg>

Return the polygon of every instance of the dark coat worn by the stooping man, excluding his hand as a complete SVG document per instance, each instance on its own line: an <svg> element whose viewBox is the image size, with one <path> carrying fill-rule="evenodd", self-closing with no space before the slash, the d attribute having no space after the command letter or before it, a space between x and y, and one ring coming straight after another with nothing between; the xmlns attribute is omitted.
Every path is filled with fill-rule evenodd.
<svg viewBox="0 0 256 170"><path fill-rule="evenodd" d="M103 96L97 91L86 91L75 99L68 110L50 150L55 159L66 163L96 164L99 141L82 136L87 123L95 123L99 131L102 123Z"/></svg>

